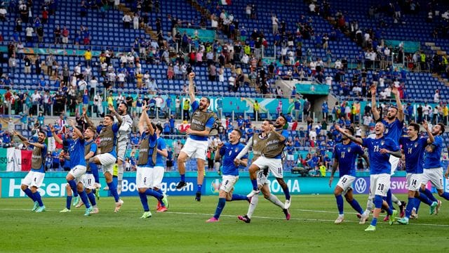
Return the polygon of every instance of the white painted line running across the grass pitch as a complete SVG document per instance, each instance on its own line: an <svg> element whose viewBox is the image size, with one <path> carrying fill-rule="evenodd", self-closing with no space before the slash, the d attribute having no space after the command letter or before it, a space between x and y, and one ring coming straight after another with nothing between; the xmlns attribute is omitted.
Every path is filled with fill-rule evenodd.
<svg viewBox="0 0 449 253"><path fill-rule="evenodd" d="M307 210L307 209L296 209L298 211L302 212L321 212L321 213L333 213L330 211L316 211L316 210ZM29 211L31 213L30 209L18 209L18 208L0 208L0 211ZM45 212L59 212L58 210L46 210ZM123 212L123 211L121 211ZM137 210L126 210L124 212L141 212ZM201 214L201 213L193 213L193 212L166 212L168 214L185 214L185 215L196 215L196 216L213 216L213 214ZM349 214L356 214L356 213L349 213ZM95 214L93 215L95 216ZM221 216L226 217L236 217L237 215L232 214L222 214ZM285 217L269 217L269 216L253 216L251 219L286 219ZM324 222L333 222L334 220L330 219L308 219L308 218L290 218L290 220L295 221L324 221ZM350 220L344 220L345 223L358 223L358 221L350 221ZM448 224L428 224L428 223L410 223L409 225L415 225L415 226L436 226L436 227L449 227Z"/></svg>

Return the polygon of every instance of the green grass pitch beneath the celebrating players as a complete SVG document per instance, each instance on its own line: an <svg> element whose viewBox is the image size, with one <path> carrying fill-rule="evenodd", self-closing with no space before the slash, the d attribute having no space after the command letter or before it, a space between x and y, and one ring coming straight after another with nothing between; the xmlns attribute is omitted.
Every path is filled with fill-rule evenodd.
<svg viewBox="0 0 449 253"><path fill-rule="evenodd" d="M406 200L405 195L399 195ZM279 196L283 201L284 197ZM362 207L366 195L357 195ZM169 197L166 213L140 219L138 197L123 197L114 214L112 197L102 197L99 214L83 216L84 208L61 214L65 198L43 198L47 211L30 212L29 199L0 199L0 252L448 252L449 203L441 213L429 215L421 205L419 219L410 225L389 226L380 221L377 231L358 224L354 210L344 203L345 221L335 225L337 207L333 195L295 195L291 219L271 202L259 200L251 223L236 216L246 214L248 202L227 202L220 222L206 223L213 216L217 196ZM382 218L383 218L382 214ZM262 251L264 252L264 251Z"/></svg>

